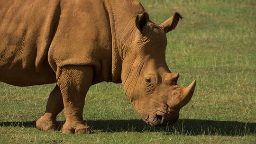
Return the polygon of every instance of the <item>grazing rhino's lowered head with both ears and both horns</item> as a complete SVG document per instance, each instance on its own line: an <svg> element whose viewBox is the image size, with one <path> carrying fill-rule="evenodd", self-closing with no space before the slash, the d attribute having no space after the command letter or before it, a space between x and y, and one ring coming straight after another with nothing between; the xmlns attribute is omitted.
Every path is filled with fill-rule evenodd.
<svg viewBox="0 0 256 144"><path fill-rule="evenodd" d="M121 72L123 88L142 119L151 126L175 123L196 86L196 81L188 87L177 85L179 74L171 73L165 61L166 33L181 18L175 13L156 25L144 12L128 23L127 27L133 30L123 37L126 40Z"/></svg>

